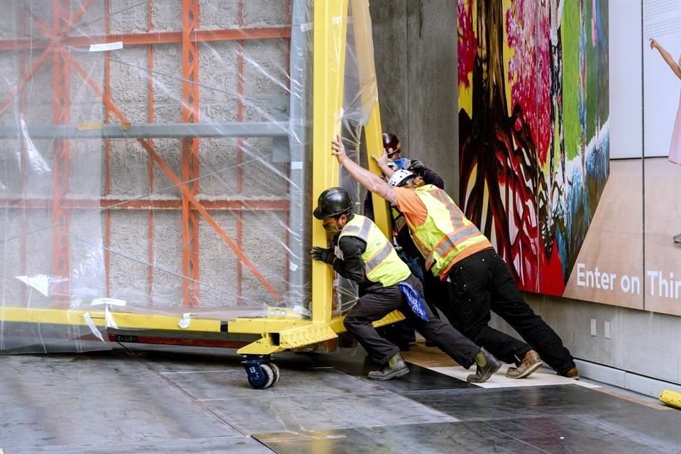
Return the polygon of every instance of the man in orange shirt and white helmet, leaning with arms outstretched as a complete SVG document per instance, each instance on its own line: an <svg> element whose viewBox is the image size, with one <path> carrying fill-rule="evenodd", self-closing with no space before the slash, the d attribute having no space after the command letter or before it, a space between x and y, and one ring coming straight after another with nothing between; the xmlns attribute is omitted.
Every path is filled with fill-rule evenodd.
<svg viewBox="0 0 681 454"><path fill-rule="evenodd" d="M390 169L385 155L375 160L388 182L348 159L340 138L333 140L331 148L363 187L404 214L426 268L442 282L446 298L441 299L440 309L465 336L516 365L509 367L507 377L527 377L541 366L541 358L559 375L578 377L572 355L558 334L526 304L504 260L448 194L424 185L413 172ZM488 326L490 310L532 347Z"/></svg>

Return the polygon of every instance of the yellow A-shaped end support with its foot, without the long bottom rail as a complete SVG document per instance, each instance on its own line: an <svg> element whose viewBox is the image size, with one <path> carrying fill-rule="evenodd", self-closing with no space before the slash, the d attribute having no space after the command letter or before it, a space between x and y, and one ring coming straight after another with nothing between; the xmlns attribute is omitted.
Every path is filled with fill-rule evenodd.
<svg viewBox="0 0 681 454"><path fill-rule="evenodd" d="M369 5L366 0L349 0L355 24L355 46L358 52L360 77L375 77L373 49L370 46L371 30ZM316 0L314 2L314 79L313 79L313 167L312 192L320 194L338 184L338 162L331 155L331 139L341 130L343 110L343 76L345 70L345 35L348 23L348 0ZM361 67L370 65L370 67ZM375 83L375 81L374 81ZM365 135L367 151L380 156L383 151L381 117L378 99L373 102ZM366 102L366 100L365 100ZM380 169L370 159L370 170ZM390 234L387 204L374 194L376 222L382 231ZM316 197L312 197L316 203ZM382 207L379 209L377 207ZM321 223L312 226L314 244L326 245L326 232ZM343 333L343 317L331 316L331 290L333 271L328 265L314 261L312 264L312 319L310 321L273 321L270 319L236 319L229 323L229 332L262 333L262 337L238 350L241 354L265 355L288 348L297 348L329 341ZM388 314L374 323L383 326L404 320L399 311ZM282 325L285 324L285 326ZM272 336L272 333L278 336ZM278 342L277 342L278 341Z"/></svg>

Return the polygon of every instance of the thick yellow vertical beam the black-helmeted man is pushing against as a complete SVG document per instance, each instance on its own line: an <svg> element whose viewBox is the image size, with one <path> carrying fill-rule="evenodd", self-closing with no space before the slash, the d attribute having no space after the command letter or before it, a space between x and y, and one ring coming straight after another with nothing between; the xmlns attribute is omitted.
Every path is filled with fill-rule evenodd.
<svg viewBox="0 0 681 454"><path fill-rule="evenodd" d="M338 162L331 155L331 139L341 132L347 24L348 0L314 1L311 197L314 205L324 189L338 184ZM326 231L319 221L312 223L312 243L326 247ZM332 282L331 267L313 260L313 321L331 320Z"/></svg>

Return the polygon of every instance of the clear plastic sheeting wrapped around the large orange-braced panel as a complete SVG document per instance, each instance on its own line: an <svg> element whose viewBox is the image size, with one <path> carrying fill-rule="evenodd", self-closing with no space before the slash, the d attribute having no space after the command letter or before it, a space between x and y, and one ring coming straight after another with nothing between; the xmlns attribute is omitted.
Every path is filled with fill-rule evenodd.
<svg viewBox="0 0 681 454"><path fill-rule="evenodd" d="M306 313L313 4L3 2L0 350L106 349L123 311ZM354 40L370 23L349 13L358 157L377 89ZM356 301L337 284L335 314ZM28 323L33 309L55 323Z"/></svg>

